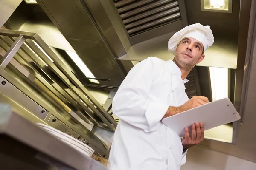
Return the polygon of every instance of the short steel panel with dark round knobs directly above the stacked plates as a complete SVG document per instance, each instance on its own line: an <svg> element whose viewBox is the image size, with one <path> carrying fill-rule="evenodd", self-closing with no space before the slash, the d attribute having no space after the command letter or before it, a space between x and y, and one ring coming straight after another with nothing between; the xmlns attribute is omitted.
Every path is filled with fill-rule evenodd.
<svg viewBox="0 0 256 170"><path fill-rule="evenodd" d="M51 127L54 127L55 129L61 130L62 132L66 133L69 136L72 136L73 138L76 138L79 141L83 141L83 137L81 137L81 135L67 127L67 125L65 125L63 122L61 122L58 118L56 118L53 115L49 117L47 124Z"/></svg>

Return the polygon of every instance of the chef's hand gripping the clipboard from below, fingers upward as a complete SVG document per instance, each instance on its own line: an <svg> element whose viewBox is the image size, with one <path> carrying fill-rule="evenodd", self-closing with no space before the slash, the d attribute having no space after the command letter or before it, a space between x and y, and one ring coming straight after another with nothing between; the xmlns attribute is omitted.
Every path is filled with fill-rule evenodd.
<svg viewBox="0 0 256 170"><path fill-rule="evenodd" d="M204 140L204 124L201 122L193 123L191 126L191 136L189 128L185 127L185 138L181 140L183 149L188 149Z"/></svg>

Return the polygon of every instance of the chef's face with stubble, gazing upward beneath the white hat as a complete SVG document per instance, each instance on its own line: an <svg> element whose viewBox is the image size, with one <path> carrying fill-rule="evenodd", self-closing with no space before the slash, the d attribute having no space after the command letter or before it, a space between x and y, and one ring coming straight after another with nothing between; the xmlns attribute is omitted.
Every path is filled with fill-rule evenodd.
<svg viewBox="0 0 256 170"><path fill-rule="evenodd" d="M191 37L185 37L177 45L174 60L181 68L193 68L204 59L203 44Z"/></svg>

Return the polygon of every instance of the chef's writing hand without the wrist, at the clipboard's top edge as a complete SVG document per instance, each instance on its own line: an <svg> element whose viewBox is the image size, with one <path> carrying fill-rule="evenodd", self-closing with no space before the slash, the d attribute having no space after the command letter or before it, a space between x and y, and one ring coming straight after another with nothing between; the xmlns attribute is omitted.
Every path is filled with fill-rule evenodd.
<svg viewBox="0 0 256 170"><path fill-rule="evenodd" d="M192 108L196 108L198 106L209 103L207 97L204 96L193 96L189 99L184 105L179 107L180 112L187 111Z"/></svg>

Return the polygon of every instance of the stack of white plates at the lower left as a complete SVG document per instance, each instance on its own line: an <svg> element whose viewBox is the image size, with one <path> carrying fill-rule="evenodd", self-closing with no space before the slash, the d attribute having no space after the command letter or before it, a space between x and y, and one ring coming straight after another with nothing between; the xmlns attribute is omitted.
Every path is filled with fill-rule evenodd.
<svg viewBox="0 0 256 170"><path fill-rule="evenodd" d="M87 144L84 144L83 142L67 135L66 133L63 133L60 130L57 130L48 125L44 125L42 123L37 123L37 125L42 129L46 130L47 132L51 133L53 136L57 137L61 141L69 144L71 147L83 153L84 155L89 157L93 155L94 150L91 147L89 147Z"/></svg>

